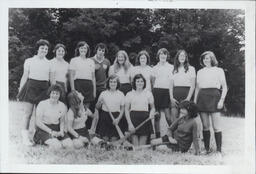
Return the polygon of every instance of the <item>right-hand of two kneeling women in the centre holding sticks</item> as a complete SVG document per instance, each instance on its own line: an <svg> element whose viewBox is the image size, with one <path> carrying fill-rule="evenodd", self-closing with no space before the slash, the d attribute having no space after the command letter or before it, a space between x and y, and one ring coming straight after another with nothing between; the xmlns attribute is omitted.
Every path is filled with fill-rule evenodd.
<svg viewBox="0 0 256 174"><path fill-rule="evenodd" d="M132 85L134 90L128 92L125 97L125 115L130 131L134 131L135 127L155 114L154 98L150 91L145 90L146 80L143 75L135 75ZM132 144L145 145L152 133L152 123L148 121L132 135Z"/></svg>

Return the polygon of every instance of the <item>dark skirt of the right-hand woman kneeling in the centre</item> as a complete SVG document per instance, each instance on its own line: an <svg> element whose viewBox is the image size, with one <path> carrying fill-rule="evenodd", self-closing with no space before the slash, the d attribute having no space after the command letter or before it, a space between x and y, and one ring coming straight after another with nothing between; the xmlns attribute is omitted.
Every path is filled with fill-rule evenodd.
<svg viewBox="0 0 256 174"><path fill-rule="evenodd" d="M149 117L149 112L147 112L147 111L131 111L130 117L131 117L133 126L136 128L140 123L142 123L144 120L146 120ZM135 132L135 135L150 136L152 133L153 133L152 123L151 123L151 121L148 121Z"/></svg>

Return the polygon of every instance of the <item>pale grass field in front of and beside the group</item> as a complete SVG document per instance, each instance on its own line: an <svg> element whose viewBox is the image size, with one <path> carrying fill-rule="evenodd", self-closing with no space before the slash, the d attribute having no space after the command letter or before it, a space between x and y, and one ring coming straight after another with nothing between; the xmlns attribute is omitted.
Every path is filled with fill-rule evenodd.
<svg viewBox="0 0 256 174"><path fill-rule="evenodd" d="M9 102L9 156L13 163L25 164L182 164L182 165L221 165L239 164L244 154L244 119L222 117L223 125L223 156L194 156L192 151L182 154L172 152L164 146L155 151L143 149L137 151L111 150L105 151L98 147L88 149L53 150L43 146L24 147L21 144L20 122L22 105ZM212 147L215 148L212 136Z"/></svg>

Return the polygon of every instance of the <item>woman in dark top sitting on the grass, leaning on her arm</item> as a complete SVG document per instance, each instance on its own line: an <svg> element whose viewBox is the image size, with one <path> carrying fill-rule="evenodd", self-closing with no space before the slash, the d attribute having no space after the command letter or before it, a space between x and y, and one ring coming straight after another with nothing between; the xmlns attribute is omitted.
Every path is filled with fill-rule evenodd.
<svg viewBox="0 0 256 174"><path fill-rule="evenodd" d="M198 108L194 102L183 101L179 104L179 118L175 120L169 127L169 137L167 135L162 138L151 141L152 145L162 143L170 143L173 151L187 152L193 142L195 155L199 155L199 138L198 125L194 118L197 117Z"/></svg>

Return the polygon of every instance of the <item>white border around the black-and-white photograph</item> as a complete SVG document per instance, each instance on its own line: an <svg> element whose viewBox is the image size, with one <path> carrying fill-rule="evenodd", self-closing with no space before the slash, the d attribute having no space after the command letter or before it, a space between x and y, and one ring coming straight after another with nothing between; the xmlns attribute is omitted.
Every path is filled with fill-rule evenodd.
<svg viewBox="0 0 256 174"><path fill-rule="evenodd" d="M255 173L255 2L254 1L126 1L126 0L4 0L0 7L0 172L51 173ZM199 165L17 165L9 161L8 10L9 8L185 8L245 10L245 161L238 166Z"/></svg>

